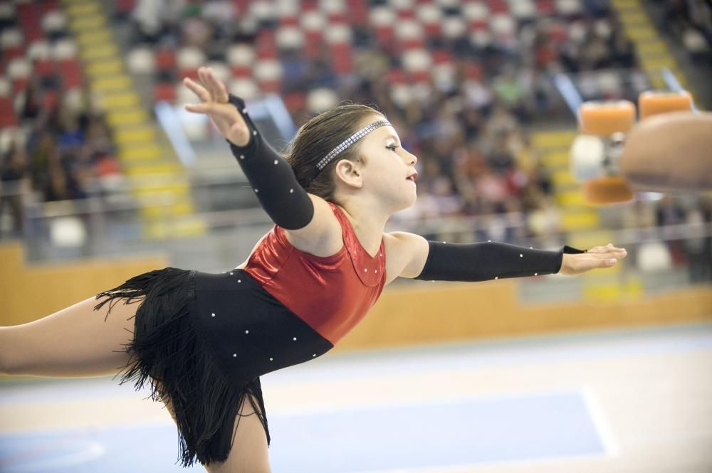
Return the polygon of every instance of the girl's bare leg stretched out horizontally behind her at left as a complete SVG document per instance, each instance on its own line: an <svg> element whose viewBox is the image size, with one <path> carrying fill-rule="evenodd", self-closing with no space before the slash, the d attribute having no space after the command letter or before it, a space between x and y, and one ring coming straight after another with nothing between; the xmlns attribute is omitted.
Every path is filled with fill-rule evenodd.
<svg viewBox="0 0 712 473"><path fill-rule="evenodd" d="M90 297L27 324L0 327L0 373L91 377L114 375L129 361L122 351L133 339L141 299L110 303ZM104 321L106 319L106 321Z"/></svg>

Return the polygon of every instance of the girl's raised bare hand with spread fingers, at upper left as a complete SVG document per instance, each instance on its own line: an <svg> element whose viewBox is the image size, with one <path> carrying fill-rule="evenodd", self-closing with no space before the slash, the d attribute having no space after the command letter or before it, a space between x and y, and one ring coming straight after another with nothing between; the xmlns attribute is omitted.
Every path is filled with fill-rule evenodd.
<svg viewBox="0 0 712 473"><path fill-rule="evenodd" d="M215 78L211 68L198 68L198 77L200 83L190 78L185 78L183 83L203 102L186 105L185 110L204 113L231 143L239 147L246 146L250 142L250 130L235 106L228 102L225 85Z"/></svg>

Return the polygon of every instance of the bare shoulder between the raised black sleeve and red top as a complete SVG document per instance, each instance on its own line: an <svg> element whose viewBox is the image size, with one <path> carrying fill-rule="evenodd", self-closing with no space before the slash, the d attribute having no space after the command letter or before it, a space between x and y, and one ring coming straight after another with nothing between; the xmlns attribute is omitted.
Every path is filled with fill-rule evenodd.
<svg viewBox="0 0 712 473"><path fill-rule="evenodd" d="M307 193L314 204L314 216L303 228L286 230L287 240L294 248L315 256L331 256L343 247L341 223L328 201Z"/></svg>

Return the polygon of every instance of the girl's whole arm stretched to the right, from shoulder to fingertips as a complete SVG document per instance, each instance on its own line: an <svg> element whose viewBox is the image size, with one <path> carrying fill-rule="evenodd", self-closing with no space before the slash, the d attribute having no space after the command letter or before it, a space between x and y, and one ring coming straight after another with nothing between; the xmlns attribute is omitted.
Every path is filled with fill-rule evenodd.
<svg viewBox="0 0 712 473"><path fill-rule="evenodd" d="M394 232L406 261L400 276L435 281L486 281L561 273L577 275L597 267L612 267L626 256L612 244L590 250L564 246L536 250L508 243L444 243L413 233Z"/></svg>

